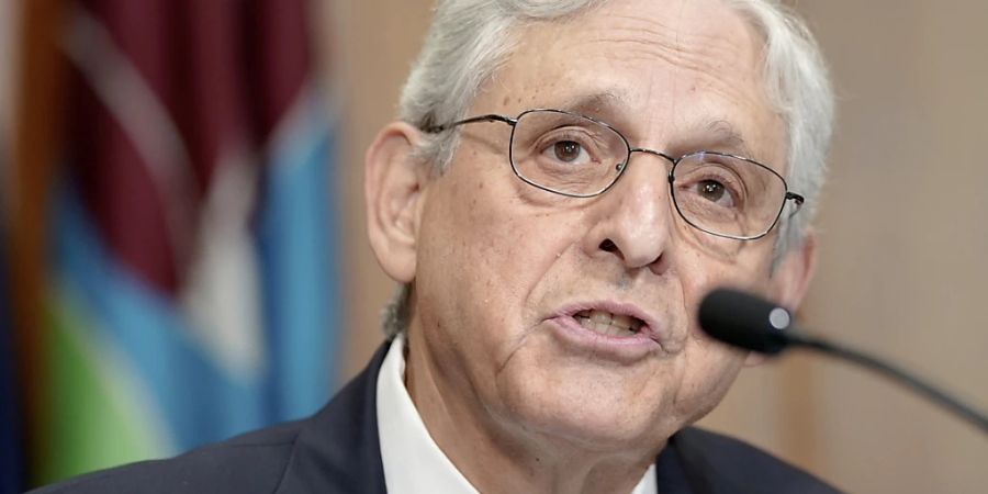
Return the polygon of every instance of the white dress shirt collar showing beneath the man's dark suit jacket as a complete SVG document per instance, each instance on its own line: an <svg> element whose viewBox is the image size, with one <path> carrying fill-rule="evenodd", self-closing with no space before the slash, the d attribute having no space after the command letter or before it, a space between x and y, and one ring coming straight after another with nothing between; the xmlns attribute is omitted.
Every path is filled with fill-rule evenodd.
<svg viewBox="0 0 988 494"><path fill-rule="evenodd" d="M378 374L378 434L384 484L393 494L476 494L426 429L405 389L405 339L391 344ZM631 494L656 494L655 464Z"/></svg>

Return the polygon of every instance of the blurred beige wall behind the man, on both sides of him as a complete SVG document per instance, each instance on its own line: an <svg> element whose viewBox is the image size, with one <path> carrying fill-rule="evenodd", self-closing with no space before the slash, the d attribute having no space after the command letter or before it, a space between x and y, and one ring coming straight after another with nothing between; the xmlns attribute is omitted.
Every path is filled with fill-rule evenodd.
<svg viewBox="0 0 988 494"><path fill-rule="evenodd" d="M361 159L394 113L428 0L344 2L348 373L392 284L364 239ZM806 325L988 409L988 3L802 1L840 121ZM705 420L851 492L988 491L988 440L883 380L809 355L746 372Z"/></svg>

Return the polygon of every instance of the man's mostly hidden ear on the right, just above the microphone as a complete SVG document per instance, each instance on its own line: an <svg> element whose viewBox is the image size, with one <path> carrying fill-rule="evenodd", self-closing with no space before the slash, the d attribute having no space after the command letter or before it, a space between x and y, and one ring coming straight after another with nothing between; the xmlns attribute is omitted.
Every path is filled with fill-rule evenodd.
<svg viewBox="0 0 988 494"><path fill-rule="evenodd" d="M795 312L802 303L809 289L809 282L817 269L817 236L807 232L802 244L789 249L782 259L770 280L768 299ZM765 361L765 356L751 352L744 361L745 366L757 366Z"/></svg>

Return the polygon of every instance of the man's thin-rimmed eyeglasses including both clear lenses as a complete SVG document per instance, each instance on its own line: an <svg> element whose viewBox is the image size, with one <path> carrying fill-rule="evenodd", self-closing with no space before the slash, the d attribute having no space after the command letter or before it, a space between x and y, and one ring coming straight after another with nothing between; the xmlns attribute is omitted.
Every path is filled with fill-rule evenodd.
<svg viewBox="0 0 988 494"><path fill-rule="evenodd" d="M786 202L793 201L796 211L805 202L789 192L781 175L753 159L716 151L674 158L631 147L609 124L562 110L528 110L514 119L479 115L425 132L479 122L512 126L508 159L519 179L570 198L593 198L614 187L628 169L631 153L662 157L672 164L667 178L676 212L691 226L718 237L761 238L778 223Z"/></svg>

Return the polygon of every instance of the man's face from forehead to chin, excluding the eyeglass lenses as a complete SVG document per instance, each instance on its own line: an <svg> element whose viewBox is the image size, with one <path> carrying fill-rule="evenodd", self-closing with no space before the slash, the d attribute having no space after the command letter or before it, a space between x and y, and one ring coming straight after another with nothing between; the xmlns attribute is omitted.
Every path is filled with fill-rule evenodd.
<svg viewBox="0 0 988 494"><path fill-rule="evenodd" d="M617 1L518 40L470 115L570 110L632 146L727 151L785 175L760 38L721 2ZM775 236L686 225L660 157L635 154L603 195L565 198L513 175L508 125L460 130L449 170L422 190L409 329L447 406L518 438L611 449L658 448L716 405L745 356L701 334L697 305L725 284L776 290ZM611 315L644 326L615 336L579 322Z"/></svg>

